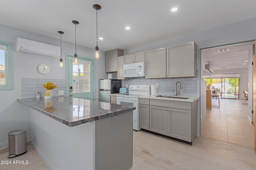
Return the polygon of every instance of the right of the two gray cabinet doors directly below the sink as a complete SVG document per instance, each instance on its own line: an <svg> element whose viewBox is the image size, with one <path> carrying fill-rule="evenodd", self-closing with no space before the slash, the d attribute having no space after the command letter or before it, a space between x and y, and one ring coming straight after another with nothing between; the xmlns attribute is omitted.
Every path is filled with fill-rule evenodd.
<svg viewBox="0 0 256 170"><path fill-rule="evenodd" d="M191 142L191 111L168 108L168 136Z"/></svg>

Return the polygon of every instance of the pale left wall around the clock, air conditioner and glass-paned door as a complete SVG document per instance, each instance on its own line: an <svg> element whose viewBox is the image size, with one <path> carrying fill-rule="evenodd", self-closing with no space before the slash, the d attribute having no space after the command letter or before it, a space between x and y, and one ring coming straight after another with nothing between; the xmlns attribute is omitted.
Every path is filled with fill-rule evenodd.
<svg viewBox="0 0 256 170"><path fill-rule="evenodd" d="M21 78L55 78L65 79L65 53L73 54L75 45L62 41L62 59L64 66L59 66L59 59L52 59L38 55L16 52L16 37L30 39L42 43L60 46L60 34L56 30L56 39L39 35L36 33L0 25L0 40L12 43L12 63L13 63L13 90L0 90L0 147L8 145L8 132L14 129L26 129L27 136L30 136L30 109L17 102L21 98ZM65 33L62 37L65 36ZM79 35L78 35L79 36ZM85 57L94 57L95 49L77 45L77 54ZM107 78L105 73L105 53L100 51L100 59L95 60L95 84L96 100L98 100L98 80ZM51 72L40 74L37 70L39 64L49 64Z"/></svg>

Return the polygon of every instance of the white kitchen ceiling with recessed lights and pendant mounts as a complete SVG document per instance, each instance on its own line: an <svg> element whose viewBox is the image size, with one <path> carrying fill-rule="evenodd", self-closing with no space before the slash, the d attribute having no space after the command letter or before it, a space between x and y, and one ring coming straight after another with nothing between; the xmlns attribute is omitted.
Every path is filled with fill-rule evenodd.
<svg viewBox="0 0 256 170"><path fill-rule="evenodd" d="M130 49L181 34L256 17L256 0L0 0L0 24L100 51ZM177 7L177 12L170 9ZM125 30L130 26L129 31Z"/></svg>

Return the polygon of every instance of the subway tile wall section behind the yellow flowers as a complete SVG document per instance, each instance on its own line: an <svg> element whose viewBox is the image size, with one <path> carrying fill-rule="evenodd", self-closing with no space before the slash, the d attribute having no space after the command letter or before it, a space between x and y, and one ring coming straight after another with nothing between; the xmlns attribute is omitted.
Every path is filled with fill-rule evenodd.
<svg viewBox="0 0 256 170"><path fill-rule="evenodd" d="M53 96L59 96L58 91L63 90L66 96L66 79L50 79L50 78L21 78L21 97L36 98L37 92L40 92L40 98L44 97L45 88L42 84L53 82L57 88L53 89Z"/></svg>

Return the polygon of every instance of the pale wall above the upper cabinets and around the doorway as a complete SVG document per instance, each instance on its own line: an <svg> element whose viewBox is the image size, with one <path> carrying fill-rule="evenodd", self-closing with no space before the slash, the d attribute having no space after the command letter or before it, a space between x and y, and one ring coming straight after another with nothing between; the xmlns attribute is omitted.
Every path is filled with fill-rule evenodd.
<svg viewBox="0 0 256 170"><path fill-rule="evenodd" d="M188 25L189 27L189 25ZM142 46L138 46L132 49L124 50L124 55L138 53L140 51L147 51L151 49L157 49L160 47L168 47L172 45L178 45L189 41L195 41L198 47L197 50L197 66L199 69L199 75L202 80L201 67L200 67L200 49L215 47L220 45L226 45L231 43L238 43L242 41L249 41L256 39L256 18L244 20L236 23L231 23L221 27L207 29L196 33L190 33L173 38L166 37L166 40L158 41L154 43L148 43ZM171 30L170 30L171 31ZM200 96L200 78L197 84L197 94ZM200 107L198 107L200 108ZM200 134L200 111L198 111L198 135Z"/></svg>

